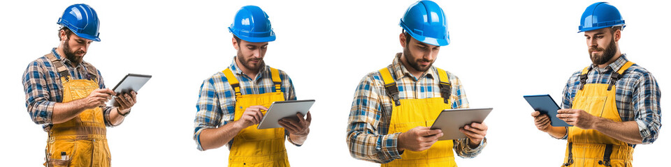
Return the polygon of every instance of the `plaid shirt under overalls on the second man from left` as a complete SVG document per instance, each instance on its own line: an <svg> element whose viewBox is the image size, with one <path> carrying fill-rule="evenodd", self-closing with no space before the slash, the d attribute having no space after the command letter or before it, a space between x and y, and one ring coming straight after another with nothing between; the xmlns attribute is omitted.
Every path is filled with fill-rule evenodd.
<svg viewBox="0 0 671 167"><path fill-rule="evenodd" d="M270 66L266 65L259 70L257 78L253 80L236 65L235 57L233 57L233 62L229 65L229 68L240 82L240 93L243 95L275 92L275 84L273 84L273 78L270 76ZM279 72L280 79L282 79L281 89L282 93L284 93L284 99L296 100L294 84L291 83L291 78L282 70L279 70ZM236 92L231 87L231 84L229 84L224 73L217 72L212 77L203 81L198 102L196 103L196 119L194 120L196 124L194 140L196 141L196 145L198 145L198 150L203 150L200 140L203 129L217 128L233 122L236 116L235 107ZM286 130L285 134L288 135ZM291 138L289 138L289 142L293 143ZM229 149L231 143L233 143L233 139L229 143L226 143Z"/></svg>

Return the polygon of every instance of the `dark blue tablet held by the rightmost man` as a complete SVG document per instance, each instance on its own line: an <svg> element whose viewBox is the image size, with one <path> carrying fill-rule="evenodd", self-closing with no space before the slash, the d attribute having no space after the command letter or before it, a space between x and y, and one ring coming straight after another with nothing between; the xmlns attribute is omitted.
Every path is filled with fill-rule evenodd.
<svg viewBox="0 0 671 167"><path fill-rule="evenodd" d="M568 125L563 120L557 118L557 110L561 108L552 100L550 95L526 95L524 99L531 105L534 111L547 114L550 118L550 125L553 127L572 127L572 125Z"/></svg>

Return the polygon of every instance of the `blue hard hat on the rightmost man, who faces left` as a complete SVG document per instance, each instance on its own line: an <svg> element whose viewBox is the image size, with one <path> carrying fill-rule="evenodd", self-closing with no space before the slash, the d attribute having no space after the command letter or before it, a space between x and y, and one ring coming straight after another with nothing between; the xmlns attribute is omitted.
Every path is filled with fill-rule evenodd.
<svg viewBox="0 0 671 167"><path fill-rule="evenodd" d="M620 15L620 11L607 2L597 2L588 6L587 9L585 9L585 12L582 13L582 17L580 17L580 26L578 26L578 33L619 25L621 25L622 28L626 26L624 24L624 19L622 19L622 15Z"/></svg>

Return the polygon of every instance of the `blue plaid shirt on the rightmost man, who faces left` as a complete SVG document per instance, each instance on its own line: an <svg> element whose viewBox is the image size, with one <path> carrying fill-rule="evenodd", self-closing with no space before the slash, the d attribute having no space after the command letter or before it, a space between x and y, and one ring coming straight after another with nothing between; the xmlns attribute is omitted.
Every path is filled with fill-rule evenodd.
<svg viewBox="0 0 671 167"><path fill-rule="evenodd" d="M627 63L626 54L617 58L605 69L596 65L589 66L586 84L609 84L611 74ZM563 90L562 108L570 109L573 97L579 90L582 70L573 73ZM636 121L643 144L653 143L658 136L661 125L661 109L659 98L661 91L656 79L648 70L639 65L632 65L623 72L621 79L615 84L615 104L622 121ZM562 139L568 138L568 134ZM631 144L630 144L631 145ZM631 145L635 147L636 145Z"/></svg>

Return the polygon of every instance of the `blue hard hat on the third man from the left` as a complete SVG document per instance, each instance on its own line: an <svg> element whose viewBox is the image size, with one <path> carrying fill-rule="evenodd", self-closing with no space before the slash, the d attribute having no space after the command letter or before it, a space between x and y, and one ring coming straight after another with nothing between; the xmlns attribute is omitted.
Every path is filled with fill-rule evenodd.
<svg viewBox="0 0 671 167"><path fill-rule="evenodd" d="M417 1L405 10L401 27L412 38L421 42L445 46L449 45L447 19L442 8L433 1Z"/></svg>

